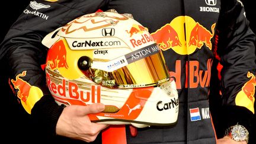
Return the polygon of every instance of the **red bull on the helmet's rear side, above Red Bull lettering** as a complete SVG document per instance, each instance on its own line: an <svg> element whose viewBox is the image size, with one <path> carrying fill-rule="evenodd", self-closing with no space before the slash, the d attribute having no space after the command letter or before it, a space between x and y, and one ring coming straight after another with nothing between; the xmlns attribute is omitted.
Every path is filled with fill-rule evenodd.
<svg viewBox="0 0 256 144"><path fill-rule="evenodd" d="M68 69L68 63L66 62L66 47L62 40L53 44L48 53L49 55L47 55L46 63L49 63L51 69Z"/></svg>

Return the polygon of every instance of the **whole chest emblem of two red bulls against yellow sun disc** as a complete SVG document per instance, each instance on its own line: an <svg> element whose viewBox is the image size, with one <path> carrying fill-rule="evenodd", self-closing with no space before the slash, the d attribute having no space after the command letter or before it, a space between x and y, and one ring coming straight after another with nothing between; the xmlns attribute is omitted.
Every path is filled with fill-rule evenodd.
<svg viewBox="0 0 256 144"><path fill-rule="evenodd" d="M172 49L179 55L190 55L204 44L212 50L211 39L215 34L215 25L212 24L211 33L193 18L179 16L151 33L151 36L162 50Z"/></svg>

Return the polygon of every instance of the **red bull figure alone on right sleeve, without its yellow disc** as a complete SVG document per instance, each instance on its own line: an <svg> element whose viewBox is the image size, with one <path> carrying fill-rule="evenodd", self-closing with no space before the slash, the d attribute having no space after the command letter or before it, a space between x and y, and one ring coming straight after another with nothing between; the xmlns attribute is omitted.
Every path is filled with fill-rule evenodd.
<svg viewBox="0 0 256 144"><path fill-rule="evenodd" d="M255 94L255 85L256 85L255 76L251 72L248 72L247 77L251 79L244 84L244 86L242 87L242 91L244 91L244 93L247 95L249 100L252 101Z"/></svg>

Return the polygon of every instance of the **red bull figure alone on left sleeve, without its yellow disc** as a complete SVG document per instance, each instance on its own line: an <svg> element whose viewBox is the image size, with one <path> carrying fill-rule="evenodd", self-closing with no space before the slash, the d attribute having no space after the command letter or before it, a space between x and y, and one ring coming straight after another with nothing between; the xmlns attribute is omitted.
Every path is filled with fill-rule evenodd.
<svg viewBox="0 0 256 144"><path fill-rule="evenodd" d="M18 98L20 98L20 100L23 101L24 103L27 102L27 98L31 88L30 84L28 84L27 82L23 81L23 79L20 78L21 76L25 76L26 72L27 71L23 71L22 73L18 74L16 76L15 81L14 79L11 79L11 82L14 85L14 88L18 89L18 93L17 93Z"/></svg>

